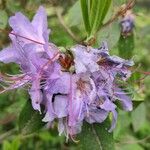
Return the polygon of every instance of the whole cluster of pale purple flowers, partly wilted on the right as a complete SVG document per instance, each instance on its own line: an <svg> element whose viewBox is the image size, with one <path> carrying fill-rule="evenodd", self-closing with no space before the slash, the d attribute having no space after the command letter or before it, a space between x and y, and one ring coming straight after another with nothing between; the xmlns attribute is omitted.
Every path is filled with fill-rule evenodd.
<svg viewBox="0 0 150 150"><path fill-rule="evenodd" d="M130 98L117 81L130 77L133 62L110 56L106 42L97 49L76 45L61 53L49 42L43 7L32 22L16 13L9 24L12 44L0 51L0 61L19 64L21 74L0 74L0 82L5 83L1 93L26 86L33 108L42 113L43 105L43 121L57 121L59 134L75 135L83 121L101 123L112 113L111 132L117 121L116 102L125 111L132 110Z"/></svg>

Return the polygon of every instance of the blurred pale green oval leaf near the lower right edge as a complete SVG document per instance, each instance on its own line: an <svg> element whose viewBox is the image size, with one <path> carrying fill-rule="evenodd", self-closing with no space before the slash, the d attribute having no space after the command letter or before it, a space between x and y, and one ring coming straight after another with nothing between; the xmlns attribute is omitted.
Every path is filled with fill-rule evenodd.
<svg viewBox="0 0 150 150"><path fill-rule="evenodd" d="M132 113L132 125L135 132L137 132L146 121L146 107L141 103Z"/></svg>

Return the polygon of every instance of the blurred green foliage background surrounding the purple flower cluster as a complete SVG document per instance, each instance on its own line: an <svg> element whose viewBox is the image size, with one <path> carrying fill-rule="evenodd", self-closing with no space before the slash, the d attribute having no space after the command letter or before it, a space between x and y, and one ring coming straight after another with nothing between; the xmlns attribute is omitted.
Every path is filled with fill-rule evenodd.
<svg viewBox="0 0 150 150"><path fill-rule="evenodd" d="M126 0L114 0L106 21L116 8ZM80 5L77 0L0 0L0 29L10 30L8 18L21 11L30 19L40 5L45 6L48 25L51 28L50 41L69 48L75 44L66 32L71 30L78 40L86 36L82 22ZM135 14L134 61L140 70L150 71L150 1L137 0ZM61 14L61 15L59 15ZM118 54L120 37L119 20L98 32L97 45L107 40L112 54ZM0 32L0 49L9 45L8 35ZM18 66L0 63L0 71L15 74ZM140 78L144 75L139 74ZM150 77L138 80L133 85L134 110L131 113L119 111L114 139L117 150L150 150ZM0 149L2 150L76 150L78 144L58 136L57 128L43 128L38 133L22 136L18 132L18 116L28 99L26 90L14 90L0 95ZM109 144L109 143L108 143Z"/></svg>

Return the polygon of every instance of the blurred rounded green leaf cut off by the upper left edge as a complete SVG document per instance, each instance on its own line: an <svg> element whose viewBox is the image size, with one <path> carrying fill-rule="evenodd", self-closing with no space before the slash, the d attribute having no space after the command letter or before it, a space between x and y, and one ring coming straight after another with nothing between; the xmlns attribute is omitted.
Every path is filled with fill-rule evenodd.
<svg viewBox="0 0 150 150"><path fill-rule="evenodd" d="M4 10L0 10L0 29L4 29L7 26L8 15Z"/></svg>

